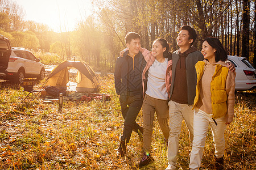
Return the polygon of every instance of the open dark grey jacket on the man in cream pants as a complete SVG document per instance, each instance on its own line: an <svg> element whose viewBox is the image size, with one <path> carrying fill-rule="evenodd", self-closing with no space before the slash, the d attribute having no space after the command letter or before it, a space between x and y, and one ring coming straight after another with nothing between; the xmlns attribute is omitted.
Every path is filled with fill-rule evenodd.
<svg viewBox="0 0 256 170"><path fill-rule="evenodd" d="M179 61L179 52L176 50L174 53L172 53L172 81L174 82L175 79L175 72L176 72L176 66L177 62ZM196 96L196 68L195 64L197 61L203 61L204 56L201 54L200 51L192 52L188 54L188 57L185 60L186 64L186 73L187 73L187 87L188 87L188 104L192 105L194 102L194 98ZM174 90L174 83L171 84L170 87L170 99L172 96L172 91Z"/></svg>

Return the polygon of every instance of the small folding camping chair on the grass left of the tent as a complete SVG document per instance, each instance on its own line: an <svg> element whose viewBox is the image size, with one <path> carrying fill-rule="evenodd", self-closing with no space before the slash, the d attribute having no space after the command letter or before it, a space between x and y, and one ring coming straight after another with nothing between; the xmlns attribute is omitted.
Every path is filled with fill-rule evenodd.
<svg viewBox="0 0 256 170"><path fill-rule="evenodd" d="M40 94L40 91L33 89L34 82L34 79L23 80L22 101L25 101L26 99L28 101L33 101L37 99L38 95Z"/></svg>

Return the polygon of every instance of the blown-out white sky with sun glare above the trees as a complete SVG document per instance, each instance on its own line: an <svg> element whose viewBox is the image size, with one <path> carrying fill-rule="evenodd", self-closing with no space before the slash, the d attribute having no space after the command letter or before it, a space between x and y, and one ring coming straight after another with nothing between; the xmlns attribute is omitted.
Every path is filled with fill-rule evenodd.
<svg viewBox="0 0 256 170"><path fill-rule="evenodd" d="M25 20L47 24L55 32L73 31L77 22L91 14L90 0L16 0Z"/></svg>

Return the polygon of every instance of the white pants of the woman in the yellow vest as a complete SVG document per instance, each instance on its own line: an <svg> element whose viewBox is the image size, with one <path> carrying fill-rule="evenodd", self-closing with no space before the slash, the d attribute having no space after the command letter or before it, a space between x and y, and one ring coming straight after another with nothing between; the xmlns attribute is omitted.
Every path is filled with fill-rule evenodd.
<svg viewBox="0 0 256 170"><path fill-rule="evenodd" d="M212 114L205 113L201 110L195 110L194 114L194 139L190 156L190 169L197 169L201 166L205 139L207 137L208 127L212 129L213 142L216 158L221 158L225 151L224 132L226 130L225 116L217 118L217 125L212 119Z"/></svg>

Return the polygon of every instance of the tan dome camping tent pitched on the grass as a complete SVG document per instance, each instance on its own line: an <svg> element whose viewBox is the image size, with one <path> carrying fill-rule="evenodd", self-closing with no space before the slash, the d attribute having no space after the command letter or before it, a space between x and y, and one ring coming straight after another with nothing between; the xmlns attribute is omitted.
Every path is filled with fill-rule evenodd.
<svg viewBox="0 0 256 170"><path fill-rule="evenodd" d="M92 68L84 61L63 61L47 76L46 86L57 87L61 90L67 89L69 82L68 70L71 68L77 69L75 78L77 92L99 92L100 83Z"/></svg>

